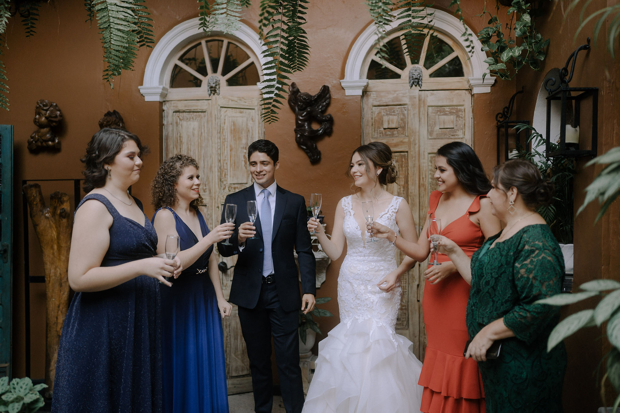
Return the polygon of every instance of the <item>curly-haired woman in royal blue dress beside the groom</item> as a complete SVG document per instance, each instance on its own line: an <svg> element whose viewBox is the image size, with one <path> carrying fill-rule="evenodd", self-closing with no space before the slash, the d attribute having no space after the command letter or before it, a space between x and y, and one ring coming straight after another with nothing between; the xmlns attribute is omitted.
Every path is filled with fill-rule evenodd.
<svg viewBox="0 0 620 413"><path fill-rule="evenodd" d="M198 163L174 155L162 163L151 186L153 225L164 253L166 236L179 235L177 257L184 267L161 287L164 412L228 413L222 318L224 299L213 245L232 234L234 224L209 231L198 211L202 203Z"/></svg>

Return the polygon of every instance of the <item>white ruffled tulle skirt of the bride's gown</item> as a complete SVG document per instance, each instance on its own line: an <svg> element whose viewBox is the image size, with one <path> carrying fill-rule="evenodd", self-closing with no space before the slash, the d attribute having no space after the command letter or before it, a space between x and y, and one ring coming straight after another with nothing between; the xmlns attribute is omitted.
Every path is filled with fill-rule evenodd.
<svg viewBox="0 0 620 413"><path fill-rule="evenodd" d="M340 323L319 343L303 413L418 413L422 363L412 342L372 320Z"/></svg>

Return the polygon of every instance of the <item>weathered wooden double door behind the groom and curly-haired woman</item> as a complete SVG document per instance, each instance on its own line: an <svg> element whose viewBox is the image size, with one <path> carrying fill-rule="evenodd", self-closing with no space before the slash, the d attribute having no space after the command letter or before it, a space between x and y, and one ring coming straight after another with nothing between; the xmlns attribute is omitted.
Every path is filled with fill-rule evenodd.
<svg viewBox="0 0 620 413"><path fill-rule="evenodd" d="M263 137L259 98L221 97L205 100L164 102L164 159L174 154L190 155L200 165L200 206L210 228L219 225L224 199L229 193L252 183L247 168L247 146ZM236 257L218 263L228 267ZM221 272L224 297L228 300L232 269ZM252 391L246 344L241 334L237 306L224 318L224 349L228 393Z"/></svg>

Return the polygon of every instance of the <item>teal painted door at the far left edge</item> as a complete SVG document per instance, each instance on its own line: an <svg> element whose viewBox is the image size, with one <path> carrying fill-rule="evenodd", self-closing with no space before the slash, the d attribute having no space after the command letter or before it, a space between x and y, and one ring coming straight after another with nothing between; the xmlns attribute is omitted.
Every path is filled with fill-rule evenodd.
<svg viewBox="0 0 620 413"><path fill-rule="evenodd" d="M13 126L0 125L0 377L11 378Z"/></svg>

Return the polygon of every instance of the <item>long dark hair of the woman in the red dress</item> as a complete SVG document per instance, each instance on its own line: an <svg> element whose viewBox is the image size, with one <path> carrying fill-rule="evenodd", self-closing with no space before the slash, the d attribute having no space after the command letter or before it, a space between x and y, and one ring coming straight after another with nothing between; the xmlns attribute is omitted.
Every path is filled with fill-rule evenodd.
<svg viewBox="0 0 620 413"><path fill-rule="evenodd" d="M471 146L464 142L450 142L437 149L436 156L446 159L456 179L468 193L486 195L491 190L489 178Z"/></svg>

